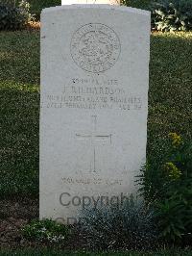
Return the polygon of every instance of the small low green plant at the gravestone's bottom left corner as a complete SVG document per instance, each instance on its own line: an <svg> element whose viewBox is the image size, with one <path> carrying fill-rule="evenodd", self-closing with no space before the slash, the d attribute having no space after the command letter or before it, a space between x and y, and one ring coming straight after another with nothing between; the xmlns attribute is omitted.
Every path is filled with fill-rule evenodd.
<svg viewBox="0 0 192 256"><path fill-rule="evenodd" d="M22 228L22 234L32 241L60 243L68 238L69 228L51 219L34 219Z"/></svg>

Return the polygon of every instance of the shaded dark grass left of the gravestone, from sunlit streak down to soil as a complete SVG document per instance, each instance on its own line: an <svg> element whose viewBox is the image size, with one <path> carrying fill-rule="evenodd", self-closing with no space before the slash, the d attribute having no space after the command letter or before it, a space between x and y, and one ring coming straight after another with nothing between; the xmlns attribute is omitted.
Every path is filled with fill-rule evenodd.
<svg viewBox="0 0 192 256"><path fill-rule="evenodd" d="M0 90L0 194L37 194L39 93Z"/></svg>

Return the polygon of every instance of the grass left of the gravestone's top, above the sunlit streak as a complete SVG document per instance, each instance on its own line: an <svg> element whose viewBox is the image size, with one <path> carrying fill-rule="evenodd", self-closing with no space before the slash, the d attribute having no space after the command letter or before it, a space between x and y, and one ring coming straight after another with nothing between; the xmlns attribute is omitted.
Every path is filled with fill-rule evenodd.
<svg viewBox="0 0 192 256"><path fill-rule="evenodd" d="M0 32L0 87L9 81L39 84L39 39L38 31Z"/></svg>

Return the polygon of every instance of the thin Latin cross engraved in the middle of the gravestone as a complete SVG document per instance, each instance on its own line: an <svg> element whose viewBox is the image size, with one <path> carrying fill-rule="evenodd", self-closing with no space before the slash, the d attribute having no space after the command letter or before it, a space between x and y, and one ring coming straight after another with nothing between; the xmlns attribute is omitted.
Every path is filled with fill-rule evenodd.
<svg viewBox="0 0 192 256"><path fill-rule="evenodd" d="M92 146L92 163L90 171L96 172L96 142L97 141L112 141L112 135L99 135L97 134L97 115L91 115L92 131L90 134L76 134L76 138L79 140L89 140Z"/></svg>

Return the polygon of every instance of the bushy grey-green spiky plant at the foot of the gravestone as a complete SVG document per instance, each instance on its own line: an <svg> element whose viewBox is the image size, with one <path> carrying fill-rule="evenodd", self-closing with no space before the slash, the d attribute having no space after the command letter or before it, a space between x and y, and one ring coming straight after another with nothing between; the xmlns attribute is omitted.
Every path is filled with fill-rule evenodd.
<svg viewBox="0 0 192 256"><path fill-rule="evenodd" d="M132 198L121 206L85 209L80 233L94 249L147 249L157 237L153 211Z"/></svg>

